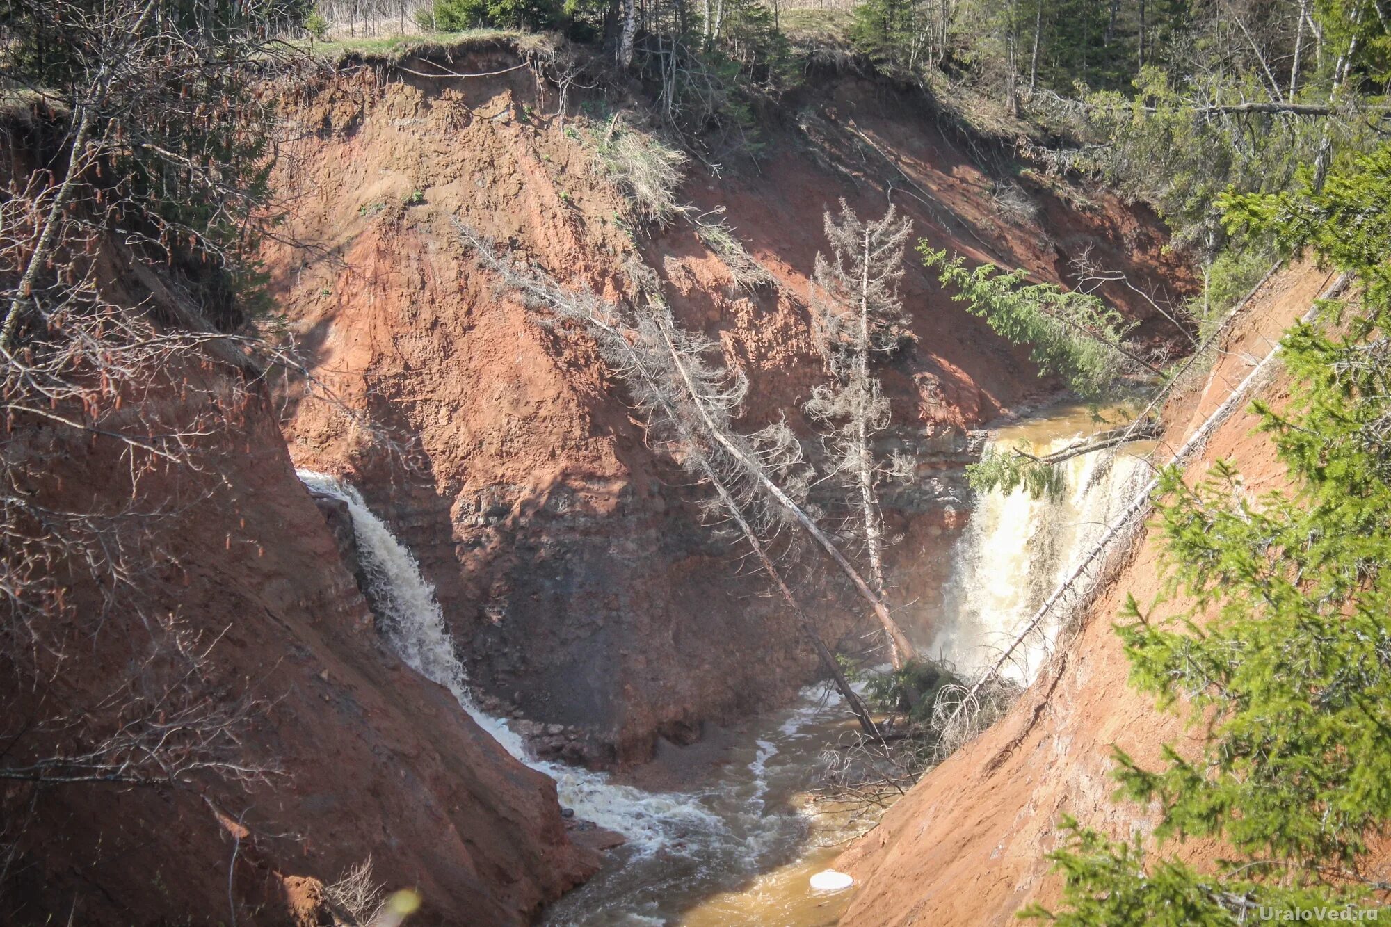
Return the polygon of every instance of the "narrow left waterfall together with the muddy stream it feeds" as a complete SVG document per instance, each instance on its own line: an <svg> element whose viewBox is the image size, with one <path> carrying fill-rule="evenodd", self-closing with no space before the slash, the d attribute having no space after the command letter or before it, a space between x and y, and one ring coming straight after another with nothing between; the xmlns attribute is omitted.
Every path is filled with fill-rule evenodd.
<svg viewBox="0 0 1391 927"><path fill-rule="evenodd" d="M810 877L844 838L822 832L801 792L825 743L849 727L840 697L804 692L796 708L748 727L751 742L690 792L648 792L559 763L531 757L505 720L484 714L467 690L434 589L405 546L332 476L299 470L316 493L348 504L362 566L383 633L396 654L447 686L484 731L556 784L576 817L616 831L627 843L583 888L551 912L552 924L833 924L842 901L812 892ZM830 821L826 821L830 827ZM846 892L840 892L846 895Z"/></svg>

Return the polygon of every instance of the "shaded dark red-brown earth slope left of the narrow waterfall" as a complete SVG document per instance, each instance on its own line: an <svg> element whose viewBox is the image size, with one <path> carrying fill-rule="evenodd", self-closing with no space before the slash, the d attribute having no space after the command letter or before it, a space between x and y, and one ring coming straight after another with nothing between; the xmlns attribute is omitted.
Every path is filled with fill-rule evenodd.
<svg viewBox="0 0 1391 927"><path fill-rule="evenodd" d="M177 415L181 376L209 383L221 374L161 376L153 401ZM198 390L188 395L203 401ZM6 841L18 839L18 856L7 862L0 920L284 924L312 895L306 878L332 882L371 856L380 882L419 888L423 924L529 923L597 863L570 845L552 781L509 757L445 689L384 644L295 476L268 393L255 387L249 405L228 406L225 430L199 448L203 472L142 477L142 498L171 514L152 521L157 560L132 582L150 597L146 621L171 615L200 647L211 646L218 688L207 697L250 692L264 702L241 734L241 761L275 771L246 791L211 777L186 788L36 792L7 782L6 807L17 817ZM35 498L54 511L82 511L92 500L118 508L134 496L114 443L63 440L19 420L6 452L46 462ZM78 579L68 593L79 614L100 607L103 590L90 582ZM138 621L121 607L90 636L74 626L61 678L42 692L4 693L10 721L114 697L129 672L122 639ZM7 740L11 761L24 759L24 745ZM8 827L28 813L33 824Z"/></svg>

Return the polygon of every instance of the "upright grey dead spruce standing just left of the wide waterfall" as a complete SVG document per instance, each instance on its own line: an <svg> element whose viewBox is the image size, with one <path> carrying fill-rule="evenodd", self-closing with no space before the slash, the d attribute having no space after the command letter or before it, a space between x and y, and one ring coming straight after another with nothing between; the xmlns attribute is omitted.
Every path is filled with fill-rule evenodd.
<svg viewBox="0 0 1391 927"><path fill-rule="evenodd" d="M875 223L861 221L840 200L840 216L825 214L830 258L817 255L811 281L811 312L817 347L826 359L830 383L817 387L805 405L807 415L828 429L829 477L847 493L855 515L851 523L864 543L869 582L881 600L885 594L883 515L879 487L907 480L912 461L901 454L879 457L874 437L889 427L889 399L871 360L890 355L907 337L907 316L899 296L903 251L912 223L900 220L893 206ZM897 625L886 625L894 668L912 658Z"/></svg>

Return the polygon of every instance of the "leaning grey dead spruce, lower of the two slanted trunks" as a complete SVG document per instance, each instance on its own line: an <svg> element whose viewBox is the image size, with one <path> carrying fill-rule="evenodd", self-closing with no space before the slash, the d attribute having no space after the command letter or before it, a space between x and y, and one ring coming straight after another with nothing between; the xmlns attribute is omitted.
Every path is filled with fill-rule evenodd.
<svg viewBox="0 0 1391 927"><path fill-rule="evenodd" d="M739 370L711 365L708 358L715 345L680 328L661 302L651 302L641 312L625 312L591 290L561 287L545 271L499 256L491 241L466 225L460 224L459 232L483 264L498 274L502 287L540 310L544 324L570 322L594 338L605 365L627 387L641 412L648 444L709 487L712 496L702 504L707 521L733 525L860 727L867 735L881 738L869 710L768 547L769 534L790 519L789 507L800 509L794 497L801 496L804 484L801 448L791 430L775 425L751 436L740 434L732 418L743 405L748 381ZM775 477L786 480L787 489L769 493L771 486L778 486Z"/></svg>

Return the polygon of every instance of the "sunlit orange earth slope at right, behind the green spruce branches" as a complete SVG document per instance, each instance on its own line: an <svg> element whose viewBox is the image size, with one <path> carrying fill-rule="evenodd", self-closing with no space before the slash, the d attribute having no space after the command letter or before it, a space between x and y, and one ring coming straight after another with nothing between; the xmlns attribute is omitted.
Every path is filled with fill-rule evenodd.
<svg viewBox="0 0 1391 927"><path fill-rule="evenodd" d="M1168 404L1164 444L1180 447L1330 281L1308 266L1270 278L1234 320L1202 388ZM1277 408L1285 397L1283 377L1260 394ZM1280 489L1284 466L1256 425L1248 411L1232 415L1188 466L1189 477L1227 458L1251 497ZM1129 664L1111 622L1127 593L1148 607L1159 589L1157 547L1146 534L1081 618L1078 635L1010 713L926 775L840 857L837 867L860 882L844 927L1014 923L1021 906L1059 896L1060 880L1043 855L1059 845L1061 816L1113 837L1150 827L1146 809L1111 800L1111 745L1153 766L1164 743L1182 750L1195 732L1125 685ZM1214 852L1207 843L1182 848L1191 860Z"/></svg>

